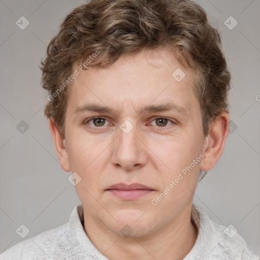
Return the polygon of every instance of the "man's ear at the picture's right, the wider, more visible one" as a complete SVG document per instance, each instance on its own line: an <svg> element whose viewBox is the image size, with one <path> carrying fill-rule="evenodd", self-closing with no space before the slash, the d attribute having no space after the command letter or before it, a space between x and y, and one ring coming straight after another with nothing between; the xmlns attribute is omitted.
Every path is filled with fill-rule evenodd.
<svg viewBox="0 0 260 260"><path fill-rule="evenodd" d="M201 163L202 171L212 169L220 158L229 134L229 119L229 114L222 112L211 123L208 136L205 138L204 158Z"/></svg>

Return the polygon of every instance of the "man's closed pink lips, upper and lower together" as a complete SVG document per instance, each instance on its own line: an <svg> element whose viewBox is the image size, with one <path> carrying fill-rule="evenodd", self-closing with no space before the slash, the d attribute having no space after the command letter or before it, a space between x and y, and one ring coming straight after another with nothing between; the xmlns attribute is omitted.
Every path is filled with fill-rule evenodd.
<svg viewBox="0 0 260 260"><path fill-rule="evenodd" d="M151 193L154 189L140 183L117 183L108 187L107 191L121 200L131 201Z"/></svg>

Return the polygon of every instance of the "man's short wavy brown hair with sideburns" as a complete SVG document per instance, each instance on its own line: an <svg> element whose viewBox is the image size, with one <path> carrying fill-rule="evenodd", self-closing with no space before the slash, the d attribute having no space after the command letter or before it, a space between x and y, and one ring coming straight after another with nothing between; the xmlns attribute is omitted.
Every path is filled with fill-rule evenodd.
<svg viewBox="0 0 260 260"><path fill-rule="evenodd" d="M62 87L59 93L57 89L65 86L75 63L99 50L88 66L106 68L122 55L158 47L172 50L184 66L196 72L194 90L206 136L216 116L229 112L230 73L217 30L208 23L203 8L189 0L92 0L74 9L41 62L42 86L51 97L45 115L64 138L69 88Z"/></svg>

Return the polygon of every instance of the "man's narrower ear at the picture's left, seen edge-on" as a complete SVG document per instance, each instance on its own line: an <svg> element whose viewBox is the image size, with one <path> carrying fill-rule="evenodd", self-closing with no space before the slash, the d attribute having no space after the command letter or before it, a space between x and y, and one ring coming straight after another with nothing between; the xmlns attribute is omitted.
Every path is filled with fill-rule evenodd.
<svg viewBox="0 0 260 260"><path fill-rule="evenodd" d="M65 139L63 139L60 135L58 128L52 119L49 119L49 126L55 150L60 161L60 166L63 171L70 172L71 167L69 164L69 157L65 145Z"/></svg>

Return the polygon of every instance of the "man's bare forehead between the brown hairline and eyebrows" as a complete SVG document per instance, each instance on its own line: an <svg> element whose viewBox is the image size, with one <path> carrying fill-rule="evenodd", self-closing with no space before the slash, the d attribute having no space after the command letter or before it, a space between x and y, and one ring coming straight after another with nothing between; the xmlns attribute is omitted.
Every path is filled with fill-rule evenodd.
<svg viewBox="0 0 260 260"><path fill-rule="evenodd" d="M198 103L193 92L194 75L164 50L124 55L106 69L80 71L77 65L73 70L79 75L71 83L68 102L74 109L89 103L119 106L121 110L174 103L189 112L198 105L193 104Z"/></svg>

